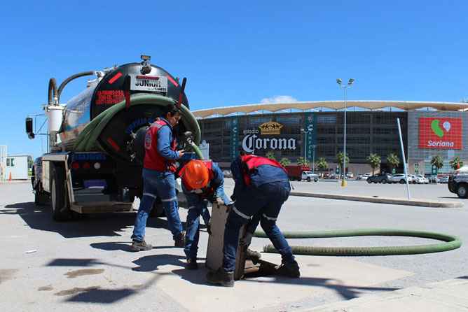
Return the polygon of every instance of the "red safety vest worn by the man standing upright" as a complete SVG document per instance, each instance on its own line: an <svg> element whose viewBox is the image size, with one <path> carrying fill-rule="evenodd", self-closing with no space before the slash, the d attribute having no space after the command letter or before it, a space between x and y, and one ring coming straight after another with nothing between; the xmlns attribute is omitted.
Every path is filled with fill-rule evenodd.
<svg viewBox="0 0 468 312"><path fill-rule="evenodd" d="M153 122L153 125L148 128L146 131L146 136L144 139L144 162L143 166L146 169L156 170L156 171L170 171L175 172L177 170L175 166L175 159L165 159L158 153L158 130L160 127L169 125L164 120L156 120ZM171 150L175 151L176 141L172 139L172 144L170 146ZM167 169L169 167L169 169Z"/></svg>

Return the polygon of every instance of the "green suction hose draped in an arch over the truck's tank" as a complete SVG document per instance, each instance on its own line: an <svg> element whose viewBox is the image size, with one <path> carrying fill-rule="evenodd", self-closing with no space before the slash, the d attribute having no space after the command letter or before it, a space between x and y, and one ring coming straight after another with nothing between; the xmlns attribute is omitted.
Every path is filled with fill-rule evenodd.
<svg viewBox="0 0 468 312"><path fill-rule="evenodd" d="M167 97L163 97L158 94L138 94L133 97L130 97L130 106L142 105L142 104L153 104L158 106L166 106L167 104L176 104L177 101ZM125 109L125 101L113 105L111 108L106 109L106 111L100 113L95 119L83 129L83 131L78 135L74 144L74 151L89 151L94 145L97 137L101 134L102 129L106 127L109 120L113 118L116 113ZM193 134L193 145L196 146L200 143L200 126L191 111L186 108L186 106L181 105L182 110L182 122ZM193 148L192 145L192 148ZM195 150L195 148L194 148ZM195 153L197 151L195 150ZM198 150L200 153L200 150ZM197 153L197 155L198 155ZM201 153L200 153L201 155ZM198 155L198 157L200 157Z"/></svg>

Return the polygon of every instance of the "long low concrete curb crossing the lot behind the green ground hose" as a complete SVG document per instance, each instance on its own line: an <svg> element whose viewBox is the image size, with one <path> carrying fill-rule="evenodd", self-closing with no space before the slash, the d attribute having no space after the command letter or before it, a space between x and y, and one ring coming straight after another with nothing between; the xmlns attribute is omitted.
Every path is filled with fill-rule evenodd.
<svg viewBox="0 0 468 312"><path fill-rule="evenodd" d="M460 208L464 206L463 203L460 201L434 201L434 200L421 200L421 199L410 200L410 199L403 199L403 198L319 194L319 193L305 193L305 192L291 192L291 195L301 196L301 197L341 199L341 200L350 200L350 201L367 201L371 203L406 205L406 206L443 207L443 208Z"/></svg>

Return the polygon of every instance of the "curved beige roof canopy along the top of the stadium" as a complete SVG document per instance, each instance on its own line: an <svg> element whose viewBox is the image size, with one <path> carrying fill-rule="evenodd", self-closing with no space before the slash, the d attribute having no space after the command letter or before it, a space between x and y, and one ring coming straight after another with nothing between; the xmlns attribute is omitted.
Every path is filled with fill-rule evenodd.
<svg viewBox="0 0 468 312"><path fill-rule="evenodd" d="M468 103L450 103L450 102L423 102L423 101L346 101L346 108L363 108L365 110L378 110L382 108L397 108L403 111L415 111L418 109L432 108L436 111L467 111ZM268 103L268 104L250 104L239 106L226 106L218 108L201 109L193 111L193 115L198 118L230 114L238 115L239 113L254 113L260 111L278 112L292 111L321 111L323 108L331 110L344 109L344 101L308 101L308 102L293 102L293 103Z"/></svg>

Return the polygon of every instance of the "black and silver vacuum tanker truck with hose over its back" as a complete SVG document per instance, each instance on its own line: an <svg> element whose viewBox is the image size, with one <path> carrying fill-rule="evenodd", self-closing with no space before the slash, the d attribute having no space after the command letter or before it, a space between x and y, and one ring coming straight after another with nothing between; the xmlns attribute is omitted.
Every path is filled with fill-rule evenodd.
<svg viewBox="0 0 468 312"><path fill-rule="evenodd" d="M54 220L132 211L135 197L143 193L144 136L167 104L177 104L182 111L173 134L177 149L186 154L177 165L202 158L197 148L200 127L184 94L186 79L180 83L150 59L142 55L142 62L77 73L58 88L55 78L50 79L48 104L43 105L47 133L42 133L48 150L34 162L32 187L36 204L50 199ZM60 104L67 83L83 76L95 79L67 104ZM30 139L41 134L34 133L32 117L26 118ZM152 214L162 213L157 199Z"/></svg>

